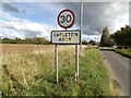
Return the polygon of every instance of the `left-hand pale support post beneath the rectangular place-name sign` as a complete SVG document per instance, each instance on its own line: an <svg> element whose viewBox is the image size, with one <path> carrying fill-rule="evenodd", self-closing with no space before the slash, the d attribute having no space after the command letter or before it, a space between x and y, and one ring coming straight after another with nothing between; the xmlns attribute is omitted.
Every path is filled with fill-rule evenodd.
<svg viewBox="0 0 131 98"><path fill-rule="evenodd" d="M56 66L56 76L58 83L58 45L55 45L55 66Z"/></svg>

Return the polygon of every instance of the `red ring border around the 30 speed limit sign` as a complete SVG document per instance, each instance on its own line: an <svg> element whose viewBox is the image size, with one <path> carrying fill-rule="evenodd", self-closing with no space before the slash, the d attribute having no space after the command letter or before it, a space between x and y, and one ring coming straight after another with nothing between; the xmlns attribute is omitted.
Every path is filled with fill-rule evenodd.
<svg viewBox="0 0 131 98"><path fill-rule="evenodd" d="M71 22L70 25L68 25L68 26L61 25L61 23L60 23L60 21L59 21L59 17L60 17L60 15L61 15L63 12L70 12L70 13L72 14L72 16L73 16L72 22ZM67 9L67 10L62 10L62 11L58 14L58 17L57 17L58 24L59 24L61 27L63 27L63 28L70 28L70 27L74 24L74 20L75 20L74 13L73 13L71 10L68 10L68 9Z"/></svg>

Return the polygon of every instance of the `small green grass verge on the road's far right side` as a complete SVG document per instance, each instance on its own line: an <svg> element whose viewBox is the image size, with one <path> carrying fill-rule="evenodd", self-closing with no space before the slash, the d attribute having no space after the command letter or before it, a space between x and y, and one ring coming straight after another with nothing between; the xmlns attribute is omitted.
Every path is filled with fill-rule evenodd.
<svg viewBox="0 0 131 98"><path fill-rule="evenodd" d="M115 52L131 58L131 49L114 49Z"/></svg>

